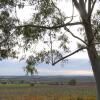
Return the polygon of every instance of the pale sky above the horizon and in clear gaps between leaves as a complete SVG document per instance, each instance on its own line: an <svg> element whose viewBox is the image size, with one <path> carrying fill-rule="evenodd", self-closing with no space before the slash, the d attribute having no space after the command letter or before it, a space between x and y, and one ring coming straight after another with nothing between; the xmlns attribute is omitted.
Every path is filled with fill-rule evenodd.
<svg viewBox="0 0 100 100"><path fill-rule="evenodd" d="M67 9L67 14L71 15L69 6L66 8L66 3L59 3L58 5L64 11ZM71 8L71 7L70 7ZM77 14L77 12L76 12ZM18 17L22 20L28 20L31 13L31 7L25 7L23 10L17 12ZM75 28L74 28L75 29ZM73 29L73 30L74 30ZM75 30L74 30L75 31ZM76 42L73 39L73 42L70 43L70 48L72 51L76 49ZM24 67L26 63L25 61L19 61L17 59L5 59L0 61L0 75L26 75L24 72ZM37 75L93 75L91 64L88 59L87 52L79 52L68 59L68 62L65 64L58 63L55 66L47 65L47 64L39 64L37 67L38 74Z"/></svg>

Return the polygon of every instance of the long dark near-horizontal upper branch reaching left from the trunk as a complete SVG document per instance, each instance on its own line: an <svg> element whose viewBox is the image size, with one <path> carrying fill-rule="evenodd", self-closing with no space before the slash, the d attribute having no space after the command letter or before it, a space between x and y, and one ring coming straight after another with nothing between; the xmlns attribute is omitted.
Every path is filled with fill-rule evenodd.
<svg viewBox="0 0 100 100"><path fill-rule="evenodd" d="M37 27L37 28L44 28L44 29L57 29L65 26L74 26L74 25L81 25L82 22L74 22L74 23L66 23L66 24L61 24L57 26L41 26L41 25L33 25L33 24L28 24L28 25L20 25L20 26L15 26L15 28L23 28L23 27Z"/></svg>

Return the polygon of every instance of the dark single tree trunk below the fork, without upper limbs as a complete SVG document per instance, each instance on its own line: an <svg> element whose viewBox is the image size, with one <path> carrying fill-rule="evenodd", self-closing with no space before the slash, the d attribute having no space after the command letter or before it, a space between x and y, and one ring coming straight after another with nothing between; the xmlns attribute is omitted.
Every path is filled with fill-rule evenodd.
<svg viewBox="0 0 100 100"><path fill-rule="evenodd" d="M100 59L98 57L95 44L94 44L94 34L92 32L92 25L90 20L83 21L83 26L85 28L87 41L88 41L88 55L93 69L96 87L97 87L97 100L100 100Z"/></svg>

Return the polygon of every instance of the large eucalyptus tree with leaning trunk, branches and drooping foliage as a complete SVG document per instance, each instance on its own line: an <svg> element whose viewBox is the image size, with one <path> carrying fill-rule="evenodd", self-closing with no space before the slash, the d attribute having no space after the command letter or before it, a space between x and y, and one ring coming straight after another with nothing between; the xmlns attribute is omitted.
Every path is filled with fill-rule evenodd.
<svg viewBox="0 0 100 100"><path fill-rule="evenodd" d="M49 45L47 49L44 45L43 47L40 45L42 50L38 52L32 50L32 55L29 57L29 59L27 59L27 70L31 69L33 71L35 70L34 66L36 66L38 63L46 62L55 65L60 61L64 61L69 56L86 49L96 80L98 94L97 98L100 100L100 11L99 6L96 6L99 4L99 0L63 1L66 3L66 11L68 11L67 6L69 6L67 3L70 2L72 5L70 7L72 9L69 9L70 12L72 12L71 16L67 15L67 12L66 14L63 13L62 9L59 8L58 5L62 2L60 0L1 0L1 14L2 12L8 12L8 8L12 10L19 7L20 10L25 6L33 7L33 15L29 21L23 23L16 22L19 21L16 17L15 19L17 20L11 19L9 23L9 26L11 26L8 27L5 24L8 24L7 19L9 19L10 16L5 18L7 21L4 21L3 24L1 22L4 19L1 19L1 35L5 33L8 34L10 32L15 37L22 36L23 43L25 44L23 47L27 50L29 50L33 44L38 44L39 42L44 43L44 45ZM75 16L75 10L77 10L78 16ZM16 15L16 10L14 11ZM6 13L4 16L8 16L7 14L8 13ZM13 17L11 16L11 18ZM82 37L80 37L80 34L79 36L76 36L76 34L72 32L71 29L74 26L79 28L80 26L82 27ZM5 29L7 29L7 32L3 32ZM70 52L70 47L68 47L68 43L71 41L69 40L68 34L71 34L75 39L81 42L81 44L78 44L79 48L74 52ZM10 35L8 34L8 36ZM4 41L3 43L6 42ZM7 47L8 45L6 44L5 46Z"/></svg>

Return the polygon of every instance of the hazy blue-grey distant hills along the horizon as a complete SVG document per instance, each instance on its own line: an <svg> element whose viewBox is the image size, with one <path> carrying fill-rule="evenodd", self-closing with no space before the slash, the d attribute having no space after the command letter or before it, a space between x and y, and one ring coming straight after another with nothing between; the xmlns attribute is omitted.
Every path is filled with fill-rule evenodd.
<svg viewBox="0 0 100 100"><path fill-rule="evenodd" d="M68 82L71 79L77 82L95 82L93 76L0 76L0 81Z"/></svg>

